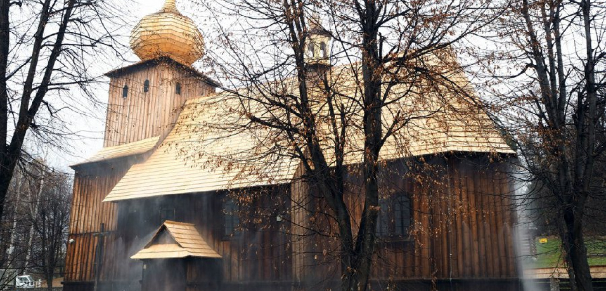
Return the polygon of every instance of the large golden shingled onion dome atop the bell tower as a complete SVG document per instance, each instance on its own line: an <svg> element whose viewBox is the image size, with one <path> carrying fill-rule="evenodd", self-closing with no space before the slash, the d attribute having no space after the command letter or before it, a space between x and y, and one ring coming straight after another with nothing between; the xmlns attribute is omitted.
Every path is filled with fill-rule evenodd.
<svg viewBox="0 0 606 291"><path fill-rule="evenodd" d="M202 34L175 2L167 0L160 11L144 16L133 28L130 47L142 61L168 56L191 65L204 55Z"/></svg>

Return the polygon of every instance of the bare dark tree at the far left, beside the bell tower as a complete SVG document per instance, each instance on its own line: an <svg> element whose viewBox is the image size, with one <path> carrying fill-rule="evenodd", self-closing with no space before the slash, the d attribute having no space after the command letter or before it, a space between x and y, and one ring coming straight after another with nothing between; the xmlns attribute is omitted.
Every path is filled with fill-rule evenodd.
<svg viewBox="0 0 606 291"><path fill-rule="evenodd" d="M0 216L27 137L58 146L68 105L93 98L90 60L115 48L119 14L107 1L0 1Z"/></svg>

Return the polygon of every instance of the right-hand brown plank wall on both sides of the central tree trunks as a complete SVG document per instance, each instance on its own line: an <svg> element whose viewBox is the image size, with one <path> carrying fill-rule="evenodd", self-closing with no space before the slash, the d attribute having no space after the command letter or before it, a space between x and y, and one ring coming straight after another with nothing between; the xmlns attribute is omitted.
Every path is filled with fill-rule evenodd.
<svg viewBox="0 0 606 291"><path fill-rule="evenodd" d="M371 278L387 281L441 279L518 278L514 253L514 211L507 199L513 194L511 180L503 170L504 162L488 162L485 155L448 155L425 157L433 169L408 172L404 161L387 164L382 176L381 195L404 192L411 195L412 226L410 237L379 240ZM313 187L293 183L293 200L306 207L313 202L308 193ZM347 184L347 204L357 227L364 199L360 179L352 174ZM318 212L326 207L318 201ZM310 219L311 218L311 219ZM334 221L305 210L293 209L293 233L314 227L326 230ZM322 221L324 219L325 221ZM313 222L310 222L313 221ZM322 221L322 222L319 222ZM336 230L335 230L336 231ZM338 244L325 238L293 238L293 277L320 284L330 281L325 274L339 278L335 256ZM322 278L318 278L319 274Z"/></svg>

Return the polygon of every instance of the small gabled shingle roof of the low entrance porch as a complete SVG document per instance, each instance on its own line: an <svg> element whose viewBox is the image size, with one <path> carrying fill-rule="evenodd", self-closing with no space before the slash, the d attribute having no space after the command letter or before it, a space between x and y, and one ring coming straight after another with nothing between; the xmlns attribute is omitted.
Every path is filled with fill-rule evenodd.
<svg viewBox="0 0 606 291"><path fill-rule="evenodd" d="M187 256L221 258L221 255L202 239L194 224L167 220L156 230L147 246L130 258L160 259Z"/></svg>

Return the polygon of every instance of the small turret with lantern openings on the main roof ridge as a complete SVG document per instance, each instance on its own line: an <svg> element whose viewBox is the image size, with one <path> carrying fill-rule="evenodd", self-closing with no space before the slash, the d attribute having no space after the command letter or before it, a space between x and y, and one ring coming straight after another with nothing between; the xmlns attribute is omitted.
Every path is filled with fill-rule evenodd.
<svg viewBox="0 0 606 291"><path fill-rule="evenodd" d="M330 65L331 35L322 27L322 21L317 13L308 19L307 45L305 58L308 64Z"/></svg>

